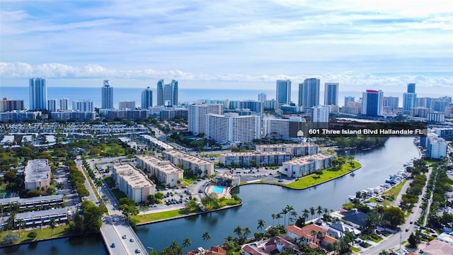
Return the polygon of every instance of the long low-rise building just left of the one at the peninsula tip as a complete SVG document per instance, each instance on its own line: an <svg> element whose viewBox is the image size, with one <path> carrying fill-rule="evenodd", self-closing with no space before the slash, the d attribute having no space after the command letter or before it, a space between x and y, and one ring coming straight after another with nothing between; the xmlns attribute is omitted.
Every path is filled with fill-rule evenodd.
<svg viewBox="0 0 453 255"><path fill-rule="evenodd" d="M229 152L220 154L224 166L281 166L291 159L290 152Z"/></svg>

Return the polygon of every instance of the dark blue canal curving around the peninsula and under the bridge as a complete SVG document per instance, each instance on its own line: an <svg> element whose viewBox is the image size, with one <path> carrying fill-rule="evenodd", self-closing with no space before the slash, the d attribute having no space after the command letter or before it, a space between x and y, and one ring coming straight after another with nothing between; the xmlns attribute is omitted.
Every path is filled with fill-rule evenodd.
<svg viewBox="0 0 453 255"><path fill-rule="evenodd" d="M169 246L173 240L182 244L186 237L192 240L193 244L189 247L190 249L222 244L226 236L234 237L233 229L237 226L249 227L253 233L258 231L258 219L265 220L266 226L272 225L271 215L281 212L286 205L292 205L299 215L302 214L301 210L310 207L316 208L318 205L337 210L343 203L348 202L348 196L355 195L356 191L379 186L384 183L389 174L395 174L401 169L404 163L414 157L420 157L418 149L413 145L413 137L391 137L382 147L351 153L362 164L362 169L355 171L355 176L346 175L303 191L265 184L241 186L234 190L243 200L241 207L142 225L137 227L137 235L145 247L151 247L156 251ZM345 154L349 155L347 152ZM288 217L289 215L286 216L286 219ZM280 219L280 223L282 221L283 218ZM202 239L202 234L205 232L208 232L211 237L207 242ZM17 246L14 250L3 249L0 251L4 251L2 254L42 254L42 251L51 251L51 247L55 246L55 252L51 251L52 254L72 254L73 252L80 254L84 253L81 252L82 250L96 249L98 249L97 253L86 252L86 254L106 253L100 238L97 239L97 242L91 240L74 246L73 252L70 250L73 249L73 246L59 240L33 244L36 246L35 249L30 249L30 245L25 244ZM38 248L40 249L38 250Z"/></svg>

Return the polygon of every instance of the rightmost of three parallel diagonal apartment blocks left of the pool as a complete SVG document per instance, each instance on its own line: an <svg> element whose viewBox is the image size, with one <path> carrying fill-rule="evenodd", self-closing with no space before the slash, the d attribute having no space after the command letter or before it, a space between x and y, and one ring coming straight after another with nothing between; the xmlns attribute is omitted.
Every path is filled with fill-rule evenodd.
<svg viewBox="0 0 453 255"><path fill-rule="evenodd" d="M214 162L209 162L190 154L178 152L174 149L164 150L162 156L175 166L180 166L182 169L193 171L195 176L203 177L212 176L212 174L214 174Z"/></svg>

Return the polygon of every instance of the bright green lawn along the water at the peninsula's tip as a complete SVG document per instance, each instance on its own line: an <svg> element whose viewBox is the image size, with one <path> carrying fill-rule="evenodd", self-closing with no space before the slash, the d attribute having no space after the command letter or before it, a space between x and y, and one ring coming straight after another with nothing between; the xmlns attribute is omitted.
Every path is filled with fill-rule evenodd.
<svg viewBox="0 0 453 255"><path fill-rule="evenodd" d="M348 174L350 171L357 169L361 166L359 162L354 162L354 167L350 166L350 164L343 164L341 166L341 169L338 171L331 171L330 169L324 169L322 170L323 174L319 176L317 174L309 174L308 176L304 176L299 181L294 181L292 183L288 183L287 187L289 188L297 188L297 189L302 189L302 188L308 188L309 186L314 186L319 183L323 183L326 181L330 181L332 179L336 179L338 176L342 176L344 174Z"/></svg>

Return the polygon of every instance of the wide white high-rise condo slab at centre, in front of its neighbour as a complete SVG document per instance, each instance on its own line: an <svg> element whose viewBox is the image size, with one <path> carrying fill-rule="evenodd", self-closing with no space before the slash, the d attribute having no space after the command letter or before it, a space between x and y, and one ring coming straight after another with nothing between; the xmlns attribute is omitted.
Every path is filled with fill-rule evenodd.
<svg viewBox="0 0 453 255"><path fill-rule="evenodd" d="M261 117L238 113L207 114L205 138L225 144L253 142L261 138Z"/></svg>

